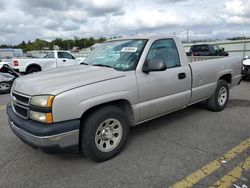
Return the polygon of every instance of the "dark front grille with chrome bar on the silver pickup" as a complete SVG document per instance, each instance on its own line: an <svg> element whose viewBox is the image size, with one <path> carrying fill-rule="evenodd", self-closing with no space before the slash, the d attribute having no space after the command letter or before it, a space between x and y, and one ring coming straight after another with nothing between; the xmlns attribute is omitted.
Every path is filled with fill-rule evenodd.
<svg viewBox="0 0 250 188"><path fill-rule="evenodd" d="M21 118L28 119L30 96L23 95L15 91L11 92L11 96L13 99L12 108L14 112Z"/></svg>

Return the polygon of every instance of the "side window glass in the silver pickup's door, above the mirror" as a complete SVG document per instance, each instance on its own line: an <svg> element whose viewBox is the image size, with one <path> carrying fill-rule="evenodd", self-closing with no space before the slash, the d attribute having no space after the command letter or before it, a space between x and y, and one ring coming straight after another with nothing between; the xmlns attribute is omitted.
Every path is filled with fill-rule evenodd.
<svg viewBox="0 0 250 188"><path fill-rule="evenodd" d="M155 41L150 47L146 59L146 61L151 60L163 61L167 68L179 67L180 58L174 40L162 39Z"/></svg>

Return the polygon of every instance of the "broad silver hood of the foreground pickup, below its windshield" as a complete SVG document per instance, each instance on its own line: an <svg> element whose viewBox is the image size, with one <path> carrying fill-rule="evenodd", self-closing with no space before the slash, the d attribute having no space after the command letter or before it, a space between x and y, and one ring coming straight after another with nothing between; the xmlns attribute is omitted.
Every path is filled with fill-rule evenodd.
<svg viewBox="0 0 250 188"><path fill-rule="evenodd" d="M53 94L125 76L124 72L97 66L71 66L19 77L13 90L26 95Z"/></svg>

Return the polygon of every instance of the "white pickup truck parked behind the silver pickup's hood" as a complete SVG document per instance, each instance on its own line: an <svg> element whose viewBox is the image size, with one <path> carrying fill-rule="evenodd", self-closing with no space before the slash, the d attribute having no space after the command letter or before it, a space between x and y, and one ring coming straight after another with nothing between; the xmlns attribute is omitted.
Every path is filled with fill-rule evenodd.
<svg viewBox="0 0 250 188"><path fill-rule="evenodd" d="M14 58L11 67L18 72L29 74L52 68L78 65L80 62L81 60L67 51L55 50L47 52L43 58Z"/></svg>

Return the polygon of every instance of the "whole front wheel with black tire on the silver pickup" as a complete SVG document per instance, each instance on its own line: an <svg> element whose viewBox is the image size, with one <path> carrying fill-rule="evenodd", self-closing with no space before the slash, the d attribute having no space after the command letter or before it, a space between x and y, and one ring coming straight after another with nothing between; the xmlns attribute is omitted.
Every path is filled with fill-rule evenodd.
<svg viewBox="0 0 250 188"><path fill-rule="evenodd" d="M115 157L128 139L128 118L115 106L95 110L81 126L80 149L86 157L96 162Z"/></svg>

